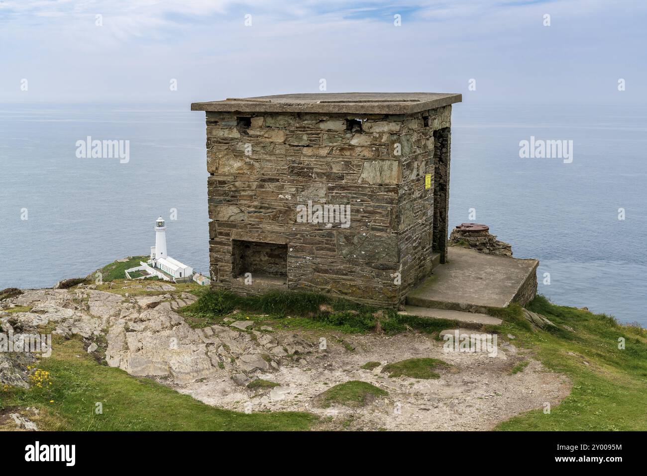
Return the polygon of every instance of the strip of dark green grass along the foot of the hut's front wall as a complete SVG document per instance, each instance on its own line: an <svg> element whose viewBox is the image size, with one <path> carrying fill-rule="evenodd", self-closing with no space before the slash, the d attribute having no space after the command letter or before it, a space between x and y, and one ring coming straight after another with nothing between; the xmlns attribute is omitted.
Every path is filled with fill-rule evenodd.
<svg viewBox="0 0 647 476"><path fill-rule="evenodd" d="M221 323L222 318L234 310L245 312L247 316L253 314L254 320L268 321L269 325L278 329L333 329L349 334L375 330L397 334L408 328L431 334L458 325L455 321L446 319L400 316L391 308L381 309L345 299L296 291L238 296L225 290L202 290L199 299L182 309L181 314L193 327L206 327ZM381 315L376 314L380 310Z"/></svg>

